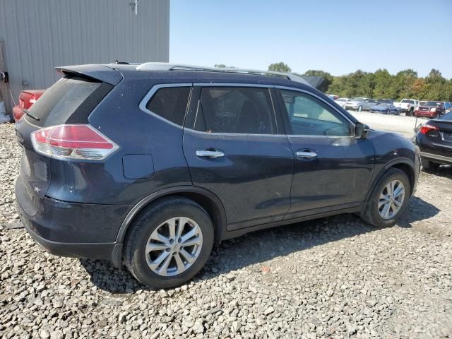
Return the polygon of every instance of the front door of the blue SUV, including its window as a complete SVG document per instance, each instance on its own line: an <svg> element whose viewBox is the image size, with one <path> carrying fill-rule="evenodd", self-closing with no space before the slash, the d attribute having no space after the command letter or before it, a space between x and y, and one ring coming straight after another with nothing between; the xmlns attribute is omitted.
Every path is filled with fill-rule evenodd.
<svg viewBox="0 0 452 339"><path fill-rule="evenodd" d="M374 147L327 101L302 90L279 91L295 157L287 218L359 206L369 188Z"/></svg>

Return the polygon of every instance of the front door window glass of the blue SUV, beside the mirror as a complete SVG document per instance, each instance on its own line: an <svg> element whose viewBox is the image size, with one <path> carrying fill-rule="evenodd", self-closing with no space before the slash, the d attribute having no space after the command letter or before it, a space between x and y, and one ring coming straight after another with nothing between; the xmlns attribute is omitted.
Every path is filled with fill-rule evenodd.
<svg viewBox="0 0 452 339"><path fill-rule="evenodd" d="M281 90L288 134L301 136L351 136L350 124L321 100L306 93Z"/></svg>

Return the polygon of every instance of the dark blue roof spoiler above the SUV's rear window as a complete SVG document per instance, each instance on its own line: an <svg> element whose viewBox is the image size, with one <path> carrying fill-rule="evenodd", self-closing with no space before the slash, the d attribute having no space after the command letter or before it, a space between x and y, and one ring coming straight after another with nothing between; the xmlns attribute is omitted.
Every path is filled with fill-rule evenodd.
<svg viewBox="0 0 452 339"><path fill-rule="evenodd" d="M122 80L122 74L105 65L79 65L79 66L61 66L55 67L59 73L69 76L80 76L94 81L102 81L110 85L117 85Z"/></svg>

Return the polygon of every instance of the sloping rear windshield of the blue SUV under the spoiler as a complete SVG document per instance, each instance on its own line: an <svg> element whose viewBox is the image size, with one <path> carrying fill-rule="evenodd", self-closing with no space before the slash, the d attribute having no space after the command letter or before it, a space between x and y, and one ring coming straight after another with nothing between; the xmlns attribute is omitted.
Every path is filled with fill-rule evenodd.
<svg viewBox="0 0 452 339"><path fill-rule="evenodd" d="M39 119L36 121L31 117L28 120L37 126L51 126L64 124L66 122L85 122L72 119L76 111L83 110L83 118L86 120L94 107L102 100L106 93L101 97L88 100L95 91L100 88L102 83L89 81L83 78L61 78L57 83L36 101L35 105L30 107L30 113ZM107 85L107 84L105 84ZM111 85L107 85L111 89ZM88 105L82 105L86 102Z"/></svg>

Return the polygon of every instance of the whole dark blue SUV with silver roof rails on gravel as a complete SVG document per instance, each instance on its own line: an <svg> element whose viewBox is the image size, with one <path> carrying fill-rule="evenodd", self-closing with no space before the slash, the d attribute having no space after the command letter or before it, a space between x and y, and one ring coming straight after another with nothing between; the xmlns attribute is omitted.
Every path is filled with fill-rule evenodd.
<svg viewBox="0 0 452 339"><path fill-rule="evenodd" d="M85 65L17 124L17 207L60 256L110 259L173 287L214 242L357 213L394 225L419 152L369 130L302 79L170 64Z"/></svg>

